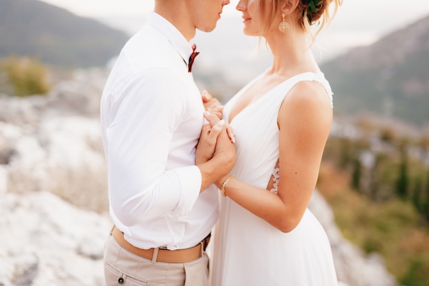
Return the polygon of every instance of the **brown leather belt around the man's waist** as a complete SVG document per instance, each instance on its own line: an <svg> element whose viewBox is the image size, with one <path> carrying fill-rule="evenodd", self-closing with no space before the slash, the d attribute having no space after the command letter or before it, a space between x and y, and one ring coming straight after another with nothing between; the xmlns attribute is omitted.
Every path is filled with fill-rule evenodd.
<svg viewBox="0 0 429 286"><path fill-rule="evenodd" d="M125 240L125 237L123 237L123 233L119 228L113 227L112 229L112 237L114 240L117 241L117 243L128 250L129 252L132 252L139 257L143 257L145 259L151 259L154 262L160 261L160 262L169 262L169 263L186 263L190 261L194 261L195 259L199 259L201 257L201 254L204 250L206 250L206 247L208 245L208 242L210 241L210 235L208 235L205 239L203 239L200 243L198 243L196 246L192 248L186 248L186 249L180 249L180 250L168 250L168 249L160 249L160 248L149 248L149 249L142 249L142 248L136 248L136 246L133 246L131 243ZM158 255L156 256L156 259L154 259L154 252L158 250Z"/></svg>

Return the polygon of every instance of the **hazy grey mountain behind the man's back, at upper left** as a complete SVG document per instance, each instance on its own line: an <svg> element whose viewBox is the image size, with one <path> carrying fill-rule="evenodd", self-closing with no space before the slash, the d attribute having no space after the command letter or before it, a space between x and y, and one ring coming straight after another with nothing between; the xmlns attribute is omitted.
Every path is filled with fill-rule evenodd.
<svg viewBox="0 0 429 286"><path fill-rule="evenodd" d="M37 0L0 0L0 58L32 56L60 67L105 65L128 36Z"/></svg>

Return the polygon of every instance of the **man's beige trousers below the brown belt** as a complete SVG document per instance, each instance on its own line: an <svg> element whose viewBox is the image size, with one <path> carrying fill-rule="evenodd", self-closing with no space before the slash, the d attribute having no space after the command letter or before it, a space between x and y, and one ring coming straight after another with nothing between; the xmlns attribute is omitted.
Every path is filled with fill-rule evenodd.
<svg viewBox="0 0 429 286"><path fill-rule="evenodd" d="M133 254L112 236L104 248L106 286L208 286L208 256L188 263L153 263Z"/></svg>

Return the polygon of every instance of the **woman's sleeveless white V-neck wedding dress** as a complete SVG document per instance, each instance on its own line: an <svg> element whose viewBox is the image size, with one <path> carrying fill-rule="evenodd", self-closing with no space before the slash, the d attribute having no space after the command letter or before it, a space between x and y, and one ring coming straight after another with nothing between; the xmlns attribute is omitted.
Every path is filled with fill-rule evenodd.
<svg viewBox="0 0 429 286"><path fill-rule="evenodd" d="M257 79L225 105L225 120L238 97ZM278 110L301 81L320 82L332 101L323 73L301 73L249 104L230 122L236 133L236 165L231 174L238 180L267 187L279 158ZM328 237L308 209L294 230L282 233L230 198L220 200L221 216L211 246L212 286L338 285Z"/></svg>

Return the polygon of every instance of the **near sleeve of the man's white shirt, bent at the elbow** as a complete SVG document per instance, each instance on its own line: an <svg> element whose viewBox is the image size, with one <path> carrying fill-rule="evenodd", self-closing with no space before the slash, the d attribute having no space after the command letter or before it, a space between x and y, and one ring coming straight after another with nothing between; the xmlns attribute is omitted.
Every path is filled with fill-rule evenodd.
<svg viewBox="0 0 429 286"><path fill-rule="evenodd" d="M186 111L183 86L167 69L136 75L108 110L110 205L125 226L191 211L201 188L195 165L166 169L173 132Z"/></svg>

